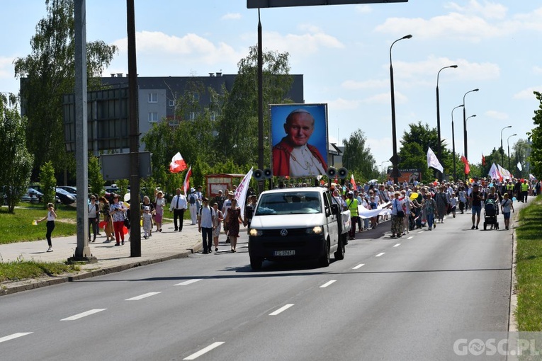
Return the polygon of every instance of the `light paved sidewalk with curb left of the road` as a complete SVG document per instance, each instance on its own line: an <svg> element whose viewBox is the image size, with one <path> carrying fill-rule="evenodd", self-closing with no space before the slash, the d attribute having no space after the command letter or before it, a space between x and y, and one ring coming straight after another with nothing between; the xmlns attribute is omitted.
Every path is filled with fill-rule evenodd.
<svg viewBox="0 0 542 361"><path fill-rule="evenodd" d="M44 228L45 232L45 228ZM53 231L53 236L55 231ZM0 284L0 295L31 290L38 287L55 285L62 282L82 280L96 275L128 270L140 265L188 257L202 248L201 234L197 225L191 225L190 220L184 220L183 231L174 231L173 222L162 226L162 232L152 232L152 237L144 239L141 236L141 257L130 257L130 242L125 235L124 246L115 246L115 241L103 243L106 234L101 229L101 236L96 242L89 243L92 256L97 263L80 265L81 271L75 275L60 275L43 277L41 279L23 280L20 282L5 282ZM221 244L223 246L223 243ZM36 260L40 262L65 262L72 257L77 248L77 236L57 237L52 239L52 252L47 251L47 241L18 242L0 245L0 261L13 262L18 259Z"/></svg>

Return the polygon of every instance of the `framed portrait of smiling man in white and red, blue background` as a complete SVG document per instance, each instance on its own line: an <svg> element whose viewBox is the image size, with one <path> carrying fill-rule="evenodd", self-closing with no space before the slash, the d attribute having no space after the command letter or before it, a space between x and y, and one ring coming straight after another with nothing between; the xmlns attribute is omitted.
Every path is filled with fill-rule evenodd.
<svg viewBox="0 0 542 361"><path fill-rule="evenodd" d="M327 104L272 104L273 176L316 177L327 171Z"/></svg>

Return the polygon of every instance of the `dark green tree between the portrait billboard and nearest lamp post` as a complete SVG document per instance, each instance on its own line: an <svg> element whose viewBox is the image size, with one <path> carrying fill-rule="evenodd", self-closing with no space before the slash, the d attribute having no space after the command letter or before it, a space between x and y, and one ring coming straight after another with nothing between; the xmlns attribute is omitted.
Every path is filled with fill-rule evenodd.
<svg viewBox="0 0 542 361"><path fill-rule="evenodd" d="M358 129L350 134L349 139L343 139L344 153L343 164L357 176L357 181L368 181L378 177L378 169L375 166L375 159L371 154L371 148L366 145L367 138L363 130Z"/></svg>

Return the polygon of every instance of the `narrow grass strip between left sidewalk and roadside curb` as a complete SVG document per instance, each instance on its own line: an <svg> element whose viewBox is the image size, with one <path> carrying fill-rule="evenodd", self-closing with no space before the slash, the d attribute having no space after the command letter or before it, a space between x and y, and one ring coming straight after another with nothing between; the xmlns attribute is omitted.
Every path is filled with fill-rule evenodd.
<svg viewBox="0 0 542 361"><path fill-rule="evenodd" d="M0 263L0 282L20 281L43 276L55 276L81 270L79 265L64 263L35 262L34 260L16 260Z"/></svg>

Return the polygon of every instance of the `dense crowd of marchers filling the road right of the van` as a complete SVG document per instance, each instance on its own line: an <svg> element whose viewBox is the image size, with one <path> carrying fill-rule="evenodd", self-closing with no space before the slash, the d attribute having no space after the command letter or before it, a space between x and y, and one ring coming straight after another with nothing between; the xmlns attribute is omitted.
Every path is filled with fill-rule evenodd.
<svg viewBox="0 0 542 361"><path fill-rule="evenodd" d="M456 212L472 213L471 229L479 229L480 217L487 202L496 208L496 214L502 214L504 227L509 229L514 202L526 202L529 195L541 192L540 181L511 179L508 181L475 178L467 182L437 182L422 184L419 182L393 185L391 182L378 184L358 183L348 186L332 185L332 192L343 210L351 214L349 239L354 239L356 225L358 232L374 229L391 219L392 238L399 238L414 229L427 227L429 231L436 224L444 223L446 215L456 217ZM378 210L380 214L372 217L363 216L361 210ZM389 210L389 212L386 212ZM363 224L362 224L363 223ZM490 224L490 228L497 227Z"/></svg>

